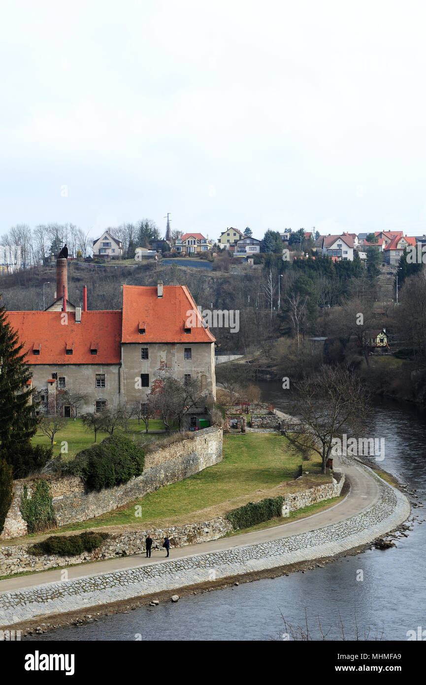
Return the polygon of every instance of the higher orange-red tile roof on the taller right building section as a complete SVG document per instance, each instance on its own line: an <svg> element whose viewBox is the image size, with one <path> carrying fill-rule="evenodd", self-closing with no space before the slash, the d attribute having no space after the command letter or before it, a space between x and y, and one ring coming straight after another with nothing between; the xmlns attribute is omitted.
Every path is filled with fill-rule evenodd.
<svg viewBox="0 0 426 685"><path fill-rule="evenodd" d="M190 312L197 326L185 333ZM140 321L145 334L139 333ZM203 327L197 305L186 286L164 286L158 297L157 286L123 286L123 343L214 343L210 329Z"/></svg>

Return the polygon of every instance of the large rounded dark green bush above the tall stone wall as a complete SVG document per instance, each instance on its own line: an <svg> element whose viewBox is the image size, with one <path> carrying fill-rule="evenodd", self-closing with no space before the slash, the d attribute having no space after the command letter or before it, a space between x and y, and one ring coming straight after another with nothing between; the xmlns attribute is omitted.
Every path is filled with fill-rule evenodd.
<svg viewBox="0 0 426 685"><path fill-rule="evenodd" d="M79 452L68 464L68 473L81 476L88 490L102 490L141 475L144 464L145 451L119 432Z"/></svg>

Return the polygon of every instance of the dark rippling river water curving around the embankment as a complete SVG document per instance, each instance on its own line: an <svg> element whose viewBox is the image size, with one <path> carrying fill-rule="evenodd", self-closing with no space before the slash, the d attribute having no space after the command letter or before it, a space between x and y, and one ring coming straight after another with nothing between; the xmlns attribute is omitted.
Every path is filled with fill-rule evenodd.
<svg viewBox="0 0 426 685"><path fill-rule="evenodd" d="M261 383L265 400L288 407L286 390ZM339 613L347 639L354 638L355 612L361 638L407 640L408 630L426 630L426 421L424 410L377 400L366 437L384 438L380 465L417 490L414 530L397 547L336 559L323 568L258 580L182 597L179 602L105 616L36 640L269 640L283 639L284 621L305 625L319 639L317 616L327 639L339 637ZM425 512L425 514L423 514ZM361 573L362 572L362 573ZM360 579L361 576L363 580Z"/></svg>

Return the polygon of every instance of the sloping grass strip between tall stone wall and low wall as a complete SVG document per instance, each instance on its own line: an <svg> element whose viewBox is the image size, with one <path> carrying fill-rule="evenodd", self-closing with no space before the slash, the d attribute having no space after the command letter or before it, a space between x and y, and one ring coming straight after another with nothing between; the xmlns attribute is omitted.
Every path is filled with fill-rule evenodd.
<svg viewBox="0 0 426 685"><path fill-rule="evenodd" d="M218 464L164 486L121 509L60 530L123 525L140 529L146 523L150 527L161 527L208 521L248 501L329 482L329 476L321 474L321 462L315 455L312 460L303 462L303 471L309 471L309 475L295 481L301 464L301 455L284 436L274 433L224 436L223 460ZM137 518L136 505L141 508Z"/></svg>

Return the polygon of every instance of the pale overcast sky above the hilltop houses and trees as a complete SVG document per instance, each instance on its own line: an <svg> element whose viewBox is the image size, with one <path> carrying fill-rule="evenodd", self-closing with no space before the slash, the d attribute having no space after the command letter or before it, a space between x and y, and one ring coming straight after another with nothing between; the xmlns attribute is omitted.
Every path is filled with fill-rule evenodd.
<svg viewBox="0 0 426 685"><path fill-rule="evenodd" d="M426 232L424 2L5 1L0 234Z"/></svg>

